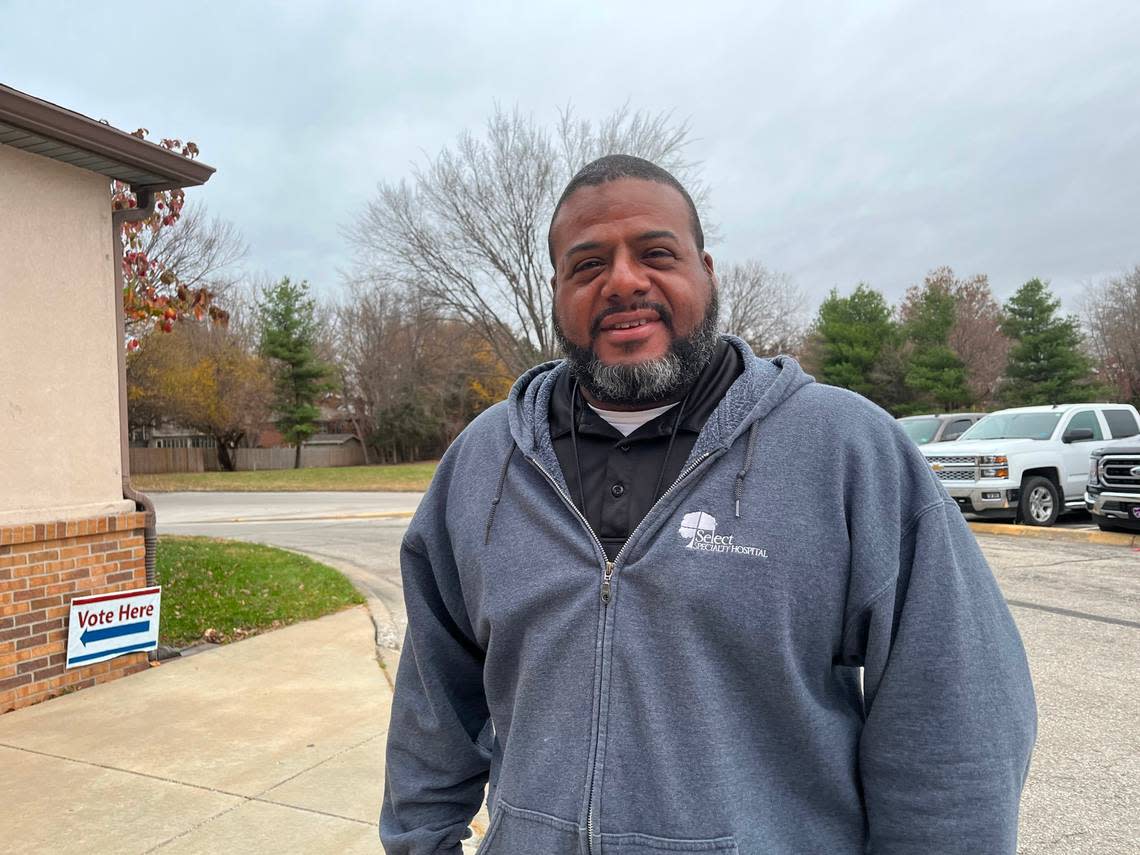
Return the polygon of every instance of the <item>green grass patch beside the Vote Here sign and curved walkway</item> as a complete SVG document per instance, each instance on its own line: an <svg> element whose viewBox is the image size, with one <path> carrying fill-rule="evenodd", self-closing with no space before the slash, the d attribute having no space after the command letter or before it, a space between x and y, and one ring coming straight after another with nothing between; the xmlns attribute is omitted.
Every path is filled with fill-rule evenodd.
<svg viewBox="0 0 1140 855"><path fill-rule="evenodd" d="M158 643L185 648L207 629L237 641L363 603L331 567L285 549L206 537L158 538Z"/></svg>

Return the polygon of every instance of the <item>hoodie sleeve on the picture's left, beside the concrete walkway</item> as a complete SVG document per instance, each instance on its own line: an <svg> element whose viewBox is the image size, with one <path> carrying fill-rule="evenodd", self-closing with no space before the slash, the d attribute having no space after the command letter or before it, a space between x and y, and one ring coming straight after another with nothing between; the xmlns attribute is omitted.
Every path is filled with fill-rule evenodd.
<svg viewBox="0 0 1140 855"><path fill-rule="evenodd" d="M407 540L400 552L408 629L388 732L380 838L388 855L458 855L479 811L490 754L483 651L458 576Z"/></svg>

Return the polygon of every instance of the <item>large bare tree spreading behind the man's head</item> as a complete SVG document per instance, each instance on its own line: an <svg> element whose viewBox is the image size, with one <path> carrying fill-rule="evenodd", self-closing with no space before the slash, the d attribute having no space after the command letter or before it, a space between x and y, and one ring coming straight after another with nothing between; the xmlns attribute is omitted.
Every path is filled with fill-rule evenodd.
<svg viewBox="0 0 1140 855"><path fill-rule="evenodd" d="M556 355L546 230L562 187L589 160L620 152L653 160L699 198L687 142L687 124L669 114L622 108L595 125L567 109L552 133L496 106L482 136L465 132L409 180L377 187L343 229L356 275L415 290L520 374Z"/></svg>

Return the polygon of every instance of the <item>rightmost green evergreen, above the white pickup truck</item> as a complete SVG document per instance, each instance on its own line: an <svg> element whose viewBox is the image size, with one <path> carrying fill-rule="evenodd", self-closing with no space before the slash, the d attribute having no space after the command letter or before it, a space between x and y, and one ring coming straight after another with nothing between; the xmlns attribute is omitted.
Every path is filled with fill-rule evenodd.
<svg viewBox="0 0 1140 855"><path fill-rule="evenodd" d="M1007 406L1066 404L1093 392L1080 324L1059 316L1060 304L1041 279L1029 279L1005 302L1001 328L1013 340L1001 389Z"/></svg>

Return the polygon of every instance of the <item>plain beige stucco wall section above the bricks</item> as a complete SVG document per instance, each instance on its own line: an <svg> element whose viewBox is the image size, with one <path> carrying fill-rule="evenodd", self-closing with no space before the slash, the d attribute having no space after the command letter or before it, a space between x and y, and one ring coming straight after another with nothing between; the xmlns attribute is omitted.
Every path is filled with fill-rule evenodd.
<svg viewBox="0 0 1140 855"><path fill-rule="evenodd" d="M0 145L0 527L130 513L108 180Z"/></svg>

